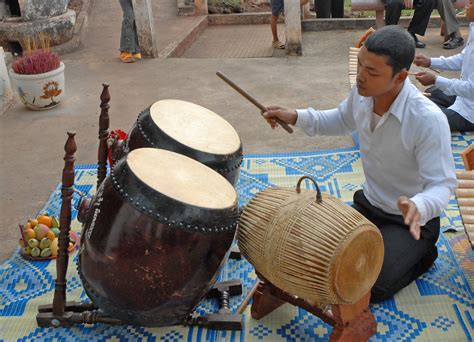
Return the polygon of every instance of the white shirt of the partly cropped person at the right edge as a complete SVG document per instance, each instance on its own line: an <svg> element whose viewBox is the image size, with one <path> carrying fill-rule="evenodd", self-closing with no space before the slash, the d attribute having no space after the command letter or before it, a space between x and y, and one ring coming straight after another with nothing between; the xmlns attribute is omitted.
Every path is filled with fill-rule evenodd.
<svg viewBox="0 0 474 342"><path fill-rule="evenodd" d="M460 79L438 75L435 86L446 95L457 95L456 101L449 109L474 123L474 23L469 24L469 36L464 50L447 58L431 58L431 66L444 70L461 70Z"/></svg>

